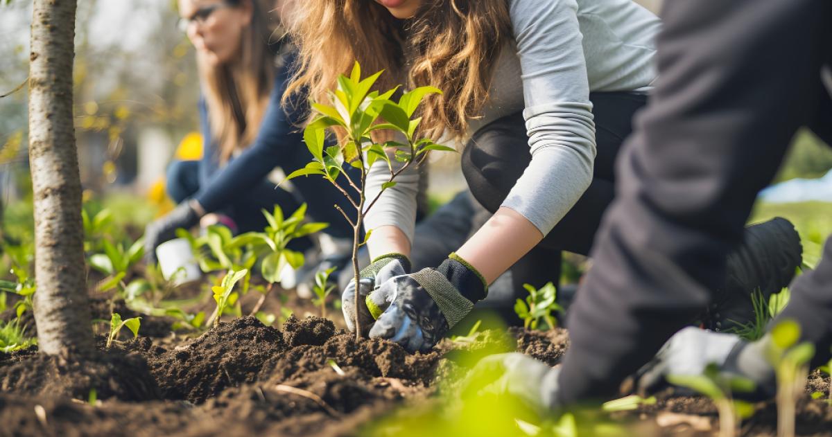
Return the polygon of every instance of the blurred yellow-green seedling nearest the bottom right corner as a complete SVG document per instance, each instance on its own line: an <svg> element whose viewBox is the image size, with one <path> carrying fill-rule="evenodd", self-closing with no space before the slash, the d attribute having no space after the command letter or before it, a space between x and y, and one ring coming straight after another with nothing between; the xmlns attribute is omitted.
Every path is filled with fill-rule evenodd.
<svg viewBox="0 0 832 437"><path fill-rule="evenodd" d="M815 345L798 344L800 324L785 320L771 328L766 341L765 357L775 368L777 377L777 435L795 435L795 403L803 393L809 361L815 356Z"/></svg>

